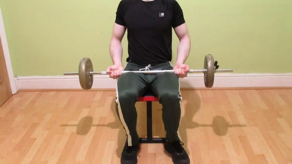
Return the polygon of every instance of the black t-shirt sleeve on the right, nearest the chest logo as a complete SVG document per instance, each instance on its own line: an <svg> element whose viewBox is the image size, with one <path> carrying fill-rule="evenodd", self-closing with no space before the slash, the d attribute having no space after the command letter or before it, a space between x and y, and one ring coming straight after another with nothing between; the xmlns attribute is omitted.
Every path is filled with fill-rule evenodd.
<svg viewBox="0 0 292 164"><path fill-rule="evenodd" d="M172 21L172 27L178 27L185 23L185 18L183 16L183 10L178 4L176 0L173 2L173 21Z"/></svg>

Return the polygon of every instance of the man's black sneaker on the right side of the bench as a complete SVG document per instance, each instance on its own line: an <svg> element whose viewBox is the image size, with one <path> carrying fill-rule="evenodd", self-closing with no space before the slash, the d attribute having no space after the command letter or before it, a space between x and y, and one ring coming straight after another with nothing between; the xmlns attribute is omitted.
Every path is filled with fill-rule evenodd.
<svg viewBox="0 0 292 164"><path fill-rule="evenodd" d="M190 164L190 158L182 145L184 144L179 141L164 144L164 149L171 154L174 164Z"/></svg>

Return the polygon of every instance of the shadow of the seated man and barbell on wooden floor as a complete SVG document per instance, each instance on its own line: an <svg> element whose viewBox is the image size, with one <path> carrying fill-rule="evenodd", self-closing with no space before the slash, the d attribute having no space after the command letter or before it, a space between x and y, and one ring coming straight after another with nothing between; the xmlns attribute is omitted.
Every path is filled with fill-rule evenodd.
<svg viewBox="0 0 292 164"><path fill-rule="evenodd" d="M182 93L183 93L182 94L183 101L184 101L184 97L191 99L191 100L188 100L187 103L184 105L184 114L183 114L183 117L181 119L180 128L179 128L180 137L182 139L182 142L185 144L184 147L185 147L187 153L190 153L190 151L187 149L187 146L186 146L187 142L188 142L187 137L190 137L190 136L187 136L187 129L194 129L197 127L212 127L215 135L224 136L227 134L228 128L246 126L246 125L240 125L240 124L230 124L222 116L215 116L213 118L212 123L210 123L210 124L199 124L197 122L193 122L192 120L193 120L195 114L199 111L200 106L201 106L200 97L196 92L182 91ZM115 117L114 122L104 124L104 125L101 125L101 124L96 125L96 124L93 124L93 118L91 116L85 116L85 117L81 118L81 120L79 121L79 123L77 125L63 124L60 126L62 126L62 127L68 127L68 126L75 127L76 126L77 135L86 135L86 134L88 134L88 132L91 130L92 127L98 127L98 126L109 127L112 129L119 129L119 133L117 136L117 140L118 140L117 144L118 145L117 145L116 153L117 153L117 156L119 158L121 158L121 152L122 152L124 145L125 145L125 142L126 142L126 132L125 132L123 126L121 125L121 122L119 121L119 118L116 114L116 106L115 106L116 104L114 101L115 101L115 99L113 99L112 103L111 103L111 110L112 110L112 113L114 114L114 117ZM142 105L145 105L143 108L145 108L145 112L146 112L146 103L142 104ZM138 106L137 108L141 108L141 106ZM153 126L153 135L156 135L156 133L159 133L159 137L165 137L165 136L162 136L163 134L161 134L161 132L164 131L164 125L163 125L162 117L161 117L162 111L160 110L159 114L155 113L154 109L158 108L158 107L155 106L154 104L153 104L152 108L153 108L152 121L161 120L161 121L156 121L156 123L158 122L157 125L158 126L161 125L161 127ZM139 123L146 125L146 115L141 114L139 112L140 111L138 111L137 125ZM139 124L139 125L141 125L141 124ZM155 130L155 128L156 128L156 130ZM161 130L161 129L163 129L163 130ZM143 136L140 136L140 132L141 132L140 128L137 128L137 131L138 131L139 137L143 137ZM143 130L143 132L144 131L146 131L146 130Z"/></svg>

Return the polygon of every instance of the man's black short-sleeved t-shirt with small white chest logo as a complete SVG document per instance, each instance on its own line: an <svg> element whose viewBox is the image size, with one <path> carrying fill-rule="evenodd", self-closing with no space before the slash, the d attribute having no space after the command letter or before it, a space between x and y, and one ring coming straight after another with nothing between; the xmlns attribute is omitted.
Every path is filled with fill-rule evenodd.
<svg viewBox="0 0 292 164"><path fill-rule="evenodd" d="M142 66L172 59L172 28L185 23L176 0L121 0L115 22L128 30L128 61Z"/></svg>

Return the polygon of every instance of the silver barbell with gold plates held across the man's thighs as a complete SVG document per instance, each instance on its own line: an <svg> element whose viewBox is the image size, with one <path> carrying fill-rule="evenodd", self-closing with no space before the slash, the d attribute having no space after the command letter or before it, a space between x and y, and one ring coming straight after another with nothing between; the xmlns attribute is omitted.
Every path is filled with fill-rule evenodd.
<svg viewBox="0 0 292 164"><path fill-rule="evenodd" d="M233 72L233 69L218 69L219 65L217 61L214 61L214 57L211 54L205 56L204 59L204 69L190 69L189 73L203 73L204 74L204 84L206 88L213 87L214 84L214 74L216 72ZM149 70L149 71L121 71L122 74L134 72L142 74L155 74L163 72L174 72L174 70ZM81 88L84 90L91 89L93 85L93 76L99 74L107 74L106 71L93 71L93 64L91 59L85 57L79 62L79 72L64 73L64 75L79 75L79 83Z"/></svg>

